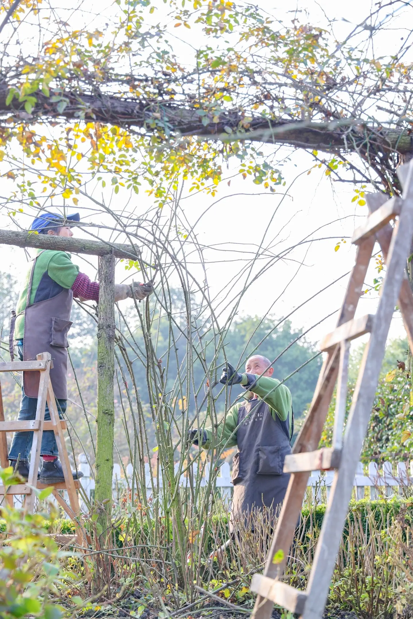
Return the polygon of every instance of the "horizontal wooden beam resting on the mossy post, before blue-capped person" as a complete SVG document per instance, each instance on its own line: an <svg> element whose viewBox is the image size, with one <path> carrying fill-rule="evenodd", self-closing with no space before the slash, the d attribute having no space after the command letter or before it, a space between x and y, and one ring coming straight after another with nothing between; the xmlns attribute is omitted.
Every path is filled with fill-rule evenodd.
<svg viewBox="0 0 413 619"><path fill-rule="evenodd" d="M123 243L89 241L84 238L67 238L66 236L29 234L28 232L13 232L12 230L0 230L0 243L2 245L16 245L17 247L54 249L55 251L67 251L75 254L89 254L90 256L107 256L107 254L113 253L113 256L116 258L131 258L133 260L139 258L132 245L124 245Z"/></svg>

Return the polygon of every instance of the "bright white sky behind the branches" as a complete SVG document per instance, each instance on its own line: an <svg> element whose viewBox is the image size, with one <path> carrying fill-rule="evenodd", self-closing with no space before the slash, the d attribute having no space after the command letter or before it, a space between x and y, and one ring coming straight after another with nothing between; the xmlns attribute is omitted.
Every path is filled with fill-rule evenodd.
<svg viewBox="0 0 413 619"><path fill-rule="evenodd" d="M160 2L160 4L163 3ZM272 14L277 14L280 19L283 18L284 8L279 9L276 6L270 11L274 2L263 2L261 0L258 4L266 7ZM291 4L290 6L293 8L294 5ZM307 7L308 17L300 13L300 20L322 24L324 21L323 10L325 10L329 17L337 19L337 37L342 37L351 29L350 24L341 21L342 17L352 24L359 23L370 12L372 4L365 0L358 0L357 2L349 0L345 4L331 4L331 2L321 0L317 4L316 2L305 2L305 6ZM287 19L289 19L288 14ZM186 30L180 32L180 34L189 36L190 31ZM399 37L400 35L396 33L395 36ZM393 43L391 37L391 33L386 34L387 43ZM289 151L285 150L285 153L287 155ZM310 238L331 238L302 245L293 254L290 254L289 260L279 261L271 267L243 298L240 306L241 315L258 314L263 316L269 312L276 317L285 316L315 292L318 292L340 275L350 271L352 267L355 251L350 245L348 237L352 235L354 228L360 224L362 217L367 214L367 208L355 207L354 203L352 204L354 186L351 183L331 183L329 178L324 176L324 171L318 170L318 168L307 175L306 172L312 165L313 160L310 155L300 151L295 152L290 157L290 161L284 164L282 173L287 181L286 188L299 173L302 173L302 175L295 180L289 189L289 196L282 201L265 238L270 241L279 234L277 238L279 245L272 247L276 253L280 248L295 245L297 241L302 240L307 235L310 235ZM11 184L12 181L1 179L1 193L10 191ZM274 194L254 196L260 191L263 191L263 189L253 185L250 180L243 181L238 178L232 180L230 187L223 183L215 198L198 195L185 198L181 202L189 223L194 223L199 215L207 207L210 207L196 230L201 243L211 248L214 246L214 249L207 251L209 261L207 275L212 293L218 293L224 282L231 279L233 263L228 262L230 257L228 256L228 249L230 248L228 243L239 244L238 248L235 245L233 247L241 253L232 254L232 258L239 261L243 258L243 251L245 251L245 246L242 247L243 243L258 245L263 239L266 227L274 215L274 210L278 206L281 196ZM284 190L280 189L280 191ZM224 196L225 199L221 199ZM123 197L119 193L116 200L121 199ZM217 202L219 199L221 200ZM134 202L137 212L146 210L150 204L149 200L141 194ZM217 204L212 206L214 202L217 202ZM87 214L86 209L89 204L80 199L79 207L81 207L82 215ZM74 207L69 209L69 212L76 210L79 209ZM0 226L6 227L7 225L6 218L0 217ZM317 228L321 227L323 227L321 230L312 234ZM81 232L79 236L82 236ZM341 244L339 251L334 251L336 242L342 238L347 238L347 244ZM96 262L93 258L87 257L87 259L92 264ZM79 264L82 271L87 272L93 278L95 277L92 267L80 257L79 259L76 257L74 261ZM302 266L300 266L301 262L303 263ZM237 266L236 262L235 266ZM17 277L22 277L23 272L27 269L24 251L1 246L0 268L4 271L9 269ZM199 272L198 266L194 265L193 269L194 273ZM120 266L118 267L118 280L123 277L123 266ZM375 272L372 269L367 279L369 284L372 283L373 277L375 277ZM292 282L289 284L291 280ZM321 318L338 309L342 302L346 284L347 278L344 278L322 295L318 295L315 300L307 303L302 309L295 311L291 318L293 326L308 329ZM284 288L286 288L285 292L277 300ZM274 301L276 302L274 303ZM362 298L357 314L374 313L376 301L376 294ZM336 316L324 321L323 324L308 334L308 338L313 341L319 340L325 332L334 329L335 321ZM404 335L404 329L399 314L395 314L391 326L391 337L398 337L399 335Z"/></svg>

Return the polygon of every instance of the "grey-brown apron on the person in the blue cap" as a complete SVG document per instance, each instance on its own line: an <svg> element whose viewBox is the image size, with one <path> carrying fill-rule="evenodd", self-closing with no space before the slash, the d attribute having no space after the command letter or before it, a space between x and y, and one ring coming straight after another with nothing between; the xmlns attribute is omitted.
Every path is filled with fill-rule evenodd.
<svg viewBox="0 0 413 619"><path fill-rule="evenodd" d="M30 302L33 272L38 256L33 261L27 290L27 304L24 310L23 360L35 360L42 352L50 352L53 368L50 370L54 396L67 400L67 332L72 326L70 314L72 309L72 290L64 288L56 297ZM40 372L23 372L24 393L28 397L37 397Z"/></svg>

